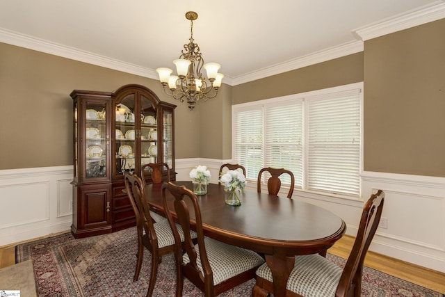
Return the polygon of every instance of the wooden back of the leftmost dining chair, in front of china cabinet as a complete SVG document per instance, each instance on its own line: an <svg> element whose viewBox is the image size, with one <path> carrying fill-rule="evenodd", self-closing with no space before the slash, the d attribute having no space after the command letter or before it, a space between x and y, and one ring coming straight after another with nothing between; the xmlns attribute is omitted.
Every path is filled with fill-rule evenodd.
<svg viewBox="0 0 445 297"><path fill-rule="evenodd" d="M133 207L136 216L138 236L142 237L142 230L145 230L150 243L157 247L158 239L154 231L152 217L149 214L150 207L145 195L145 184L137 175L132 175L129 172L124 172L124 182L131 207Z"/></svg>

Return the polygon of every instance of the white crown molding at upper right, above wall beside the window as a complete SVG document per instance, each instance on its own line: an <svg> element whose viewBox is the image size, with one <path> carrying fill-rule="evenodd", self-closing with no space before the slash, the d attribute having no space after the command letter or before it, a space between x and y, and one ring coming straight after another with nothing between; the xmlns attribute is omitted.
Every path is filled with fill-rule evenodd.
<svg viewBox="0 0 445 297"><path fill-rule="evenodd" d="M353 34L359 40L369 40L382 35L387 35L397 31L419 26L429 22L437 21L437 19L445 18L445 0L436 1L430 6L411 10L409 13L391 17L383 22L374 23L353 30Z"/></svg>

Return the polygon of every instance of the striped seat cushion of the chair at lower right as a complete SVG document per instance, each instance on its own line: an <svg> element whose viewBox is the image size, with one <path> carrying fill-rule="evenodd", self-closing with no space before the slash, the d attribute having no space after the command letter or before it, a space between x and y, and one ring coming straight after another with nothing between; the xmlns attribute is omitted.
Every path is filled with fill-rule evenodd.
<svg viewBox="0 0 445 297"><path fill-rule="evenodd" d="M286 289L305 297L335 296L342 272L339 266L321 255L297 256ZM257 275L272 282L266 263L257 269Z"/></svg>

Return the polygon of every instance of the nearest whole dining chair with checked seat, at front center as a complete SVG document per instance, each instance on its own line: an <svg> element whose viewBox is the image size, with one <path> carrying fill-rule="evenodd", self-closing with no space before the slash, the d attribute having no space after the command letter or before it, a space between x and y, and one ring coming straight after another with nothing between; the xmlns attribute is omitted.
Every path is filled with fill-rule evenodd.
<svg viewBox="0 0 445 297"><path fill-rule="evenodd" d="M175 198L173 203L166 199L167 193ZM178 224L186 234L183 255L177 225L170 211L165 211L175 236L177 297L182 296L184 277L203 291L206 297L216 296L254 278L255 271L264 263L264 259L252 250L204 237L199 202L192 191L169 182L163 184L162 196L164 209L169 208L169 203L172 205L170 208L175 211ZM190 218L191 213L195 214L193 221ZM197 233L197 244L188 235L192 225Z"/></svg>

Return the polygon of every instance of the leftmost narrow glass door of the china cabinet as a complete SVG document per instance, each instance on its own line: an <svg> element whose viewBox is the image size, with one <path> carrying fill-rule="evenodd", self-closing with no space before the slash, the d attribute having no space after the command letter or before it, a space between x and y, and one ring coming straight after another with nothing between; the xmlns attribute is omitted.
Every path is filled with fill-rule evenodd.
<svg viewBox="0 0 445 297"><path fill-rule="evenodd" d="M85 109L85 172L86 179L106 177L106 102L86 100ZM75 119L77 109L74 110ZM74 129L79 126L74 125ZM76 165L76 164L75 164ZM77 166L76 166L77 167Z"/></svg>

